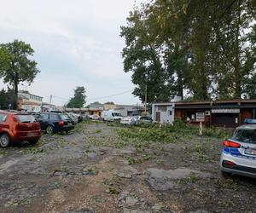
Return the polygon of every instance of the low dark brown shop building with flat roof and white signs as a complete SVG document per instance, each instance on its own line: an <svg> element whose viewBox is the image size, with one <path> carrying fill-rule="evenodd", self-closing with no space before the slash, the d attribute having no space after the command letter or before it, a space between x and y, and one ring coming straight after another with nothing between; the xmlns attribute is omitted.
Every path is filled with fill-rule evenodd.
<svg viewBox="0 0 256 213"><path fill-rule="evenodd" d="M256 100L176 102L175 118L206 126L236 127L256 118Z"/></svg>

